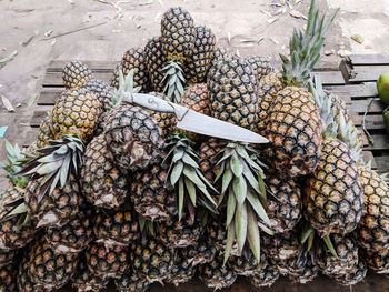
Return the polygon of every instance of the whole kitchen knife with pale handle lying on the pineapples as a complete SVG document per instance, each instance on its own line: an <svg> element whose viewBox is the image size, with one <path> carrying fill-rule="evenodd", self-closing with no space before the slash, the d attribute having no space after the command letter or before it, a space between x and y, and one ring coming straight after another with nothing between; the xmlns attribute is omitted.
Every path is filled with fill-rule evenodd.
<svg viewBox="0 0 389 292"><path fill-rule="evenodd" d="M124 92L123 101L158 112L174 113L178 120L177 128L186 131L247 143L259 144L269 142L265 137L248 129L220 121L151 94Z"/></svg>

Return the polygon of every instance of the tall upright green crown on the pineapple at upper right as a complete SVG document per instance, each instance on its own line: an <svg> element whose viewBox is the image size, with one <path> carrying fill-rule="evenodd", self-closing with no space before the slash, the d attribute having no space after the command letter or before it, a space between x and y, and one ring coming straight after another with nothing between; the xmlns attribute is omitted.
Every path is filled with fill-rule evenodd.
<svg viewBox="0 0 389 292"><path fill-rule="evenodd" d="M306 30L293 30L289 41L289 58L280 54L282 61L283 83L295 87L306 87L310 79L310 72L320 61L320 51L325 37L332 23L338 10L327 17L320 14L316 7L316 0L311 1Z"/></svg>

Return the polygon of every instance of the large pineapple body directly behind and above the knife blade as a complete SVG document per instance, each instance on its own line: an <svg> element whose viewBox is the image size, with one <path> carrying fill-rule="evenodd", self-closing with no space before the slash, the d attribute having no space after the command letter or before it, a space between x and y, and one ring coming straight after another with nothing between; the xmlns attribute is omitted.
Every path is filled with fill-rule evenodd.
<svg viewBox="0 0 389 292"><path fill-rule="evenodd" d="M253 130L257 125L257 78L243 59L223 60L208 79L211 114L219 120Z"/></svg>

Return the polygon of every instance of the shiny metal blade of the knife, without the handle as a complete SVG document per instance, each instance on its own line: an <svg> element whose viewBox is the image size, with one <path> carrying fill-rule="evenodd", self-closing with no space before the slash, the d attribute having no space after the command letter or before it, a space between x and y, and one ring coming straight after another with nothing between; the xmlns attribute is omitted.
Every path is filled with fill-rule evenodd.
<svg viewBox="0 0 389 292"><path fill-rule="evenodd" d="M268 143L269 140L250 130L238 127L232 123L223 122L218 119L188 110L178 121L178 128L194 133L221 138L231 141L247 143Z"/></svg>

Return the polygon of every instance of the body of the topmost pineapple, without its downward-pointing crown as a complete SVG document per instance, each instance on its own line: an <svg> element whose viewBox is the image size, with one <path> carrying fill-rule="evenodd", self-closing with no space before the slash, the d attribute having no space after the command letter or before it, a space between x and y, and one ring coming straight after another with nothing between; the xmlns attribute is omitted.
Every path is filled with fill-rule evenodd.
<svg viewBox="0 0 389 292"><path fill-rule="evenodd" d="M161 40L163 52L168 60L183 63L192 53L196 41L194 21L190 13L174 7L167 10L161 19Z"/></svg>

